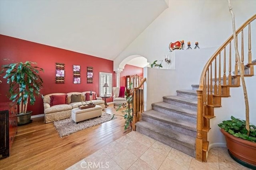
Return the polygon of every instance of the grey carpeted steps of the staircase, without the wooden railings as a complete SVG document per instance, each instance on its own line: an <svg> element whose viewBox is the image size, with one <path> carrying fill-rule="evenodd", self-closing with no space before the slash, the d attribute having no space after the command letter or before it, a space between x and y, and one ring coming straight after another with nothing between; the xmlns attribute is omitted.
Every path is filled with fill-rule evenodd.
<svg viewBox="0 0 256 170"><path fill-rule="evenodd" d="M136 131L195 157L196 90L177 90L177 96L164 96L142 113Z"/></svg>

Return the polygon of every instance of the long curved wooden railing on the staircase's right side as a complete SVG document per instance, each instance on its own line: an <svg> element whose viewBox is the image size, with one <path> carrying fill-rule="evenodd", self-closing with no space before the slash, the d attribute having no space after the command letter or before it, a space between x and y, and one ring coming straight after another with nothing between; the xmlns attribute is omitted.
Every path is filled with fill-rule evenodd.
<svg viewBox="0 0 256 170"><path fill-rule="evenodd" d="M239 38L239 49L242 68L248 72L244 76L253 76L255 63L252 63L251 52L251 23L256 19L256 14L247 20L237 31L236 39ZM245 29L246 28L246 29ZM248 31L248 61L244 61L244 30ZM233 43L232 43L233 42ZM214 118L214 107L221 107L221 98L230 97L230 87L240 86L240 75L237 59L235 57L233 35L208 60L200 77L197 90L197 137L196 137L196 160L206 162L208 152L207 135L210 128L210 119ZM228 57L226 57L228 56ZM232 61L233 60L233 61ZM248 64L244 65L244 62ZM234 64L234 68L232 65ZM231 71L234 70L234 75ZM228 75L227 75L228 74Z"/></svg>

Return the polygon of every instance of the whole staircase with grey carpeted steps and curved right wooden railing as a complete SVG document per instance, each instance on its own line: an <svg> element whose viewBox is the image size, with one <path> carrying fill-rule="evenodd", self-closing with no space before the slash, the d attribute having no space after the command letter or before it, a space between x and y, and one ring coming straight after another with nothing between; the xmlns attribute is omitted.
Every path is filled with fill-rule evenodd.
<svg viewBox="0 0 256 170"><path fill-rule="evenodd" d="M256 66L255 56L252 56L251 40L251 22L255 19L256 14L236 31L236 40L239 37L238 45L240 45L238 48L241 49L242 70L245 70L244 77L254 76L254 66ZM248 32L245 41L244 29ZM244 57L244 42L248 42L247 59ZM206 162L208 132L211 129L210 119L215 117L214 108L222 106L222 98L230 97L230 88L240 87L238 61L232 52L232 45L234 45L233 35L210 57L202 71L199 85L192 85L192 90L177 90L177 96L164 96L163 102L152 104L152 110L142 113L141 121L138 121L135 111L133 122L138 122L133 130L136 129L144 135L193 156L196 160ZM233 75L232 70L234 70Z"/></svg>

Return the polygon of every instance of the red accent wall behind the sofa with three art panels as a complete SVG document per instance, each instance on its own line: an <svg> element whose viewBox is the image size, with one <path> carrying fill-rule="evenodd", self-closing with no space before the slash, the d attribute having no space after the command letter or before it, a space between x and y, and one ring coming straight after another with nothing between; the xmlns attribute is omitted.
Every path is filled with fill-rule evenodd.
<svg viewBox="0 0 256 170"><path fill-rule="evenodd" d="M3 59L10 59L11 61ZM44 81L43 88L40 91L43 95L90 90L99 94L99 72L112 73L112 84L116 86L116 74L113 72L113 61L0 35L0 65L25 61L36 62L38 67L44 69L44 72L40 73ZM64 84L55 83L55 63L65 64ZM73 65L80 65L81 84L73 84ZM87 66L93 67L92 84L86 83ZM0 102L10 102L6 96L8 92L6 79L0 76L0 80L2 81L0 84ZM107 102L112 101L112 98L107 99ZM33 111L32 115L44 113L41 96L36 97L36 102L33 106L28 105L28 110Z"/></svg>

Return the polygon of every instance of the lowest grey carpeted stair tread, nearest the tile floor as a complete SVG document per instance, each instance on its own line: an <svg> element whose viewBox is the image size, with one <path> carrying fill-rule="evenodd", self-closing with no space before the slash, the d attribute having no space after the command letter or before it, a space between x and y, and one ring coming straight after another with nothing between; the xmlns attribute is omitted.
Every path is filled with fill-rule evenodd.
<svg viewBox="0 0 256 170"><path fill-rule="evenodd" d="M155 133L164 135L168 137L170 140L189 147L191 149L195 149L196 147L196 137L191 137L189 135L184 135L182 133L177 133L175 131L170 131L166 128L154 125L152 123L148 123L146 121L138 121L136 126L148 129L150 131L154 131Z"/></svg>

